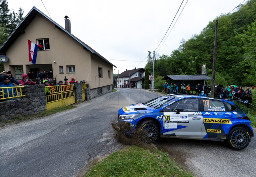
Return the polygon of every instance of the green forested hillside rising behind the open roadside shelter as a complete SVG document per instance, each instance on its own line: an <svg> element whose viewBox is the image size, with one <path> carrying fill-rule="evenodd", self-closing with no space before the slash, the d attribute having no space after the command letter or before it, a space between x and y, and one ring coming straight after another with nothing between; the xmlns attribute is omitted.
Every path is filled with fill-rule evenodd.
<svg viewBox="0 0 256 177"><path fill-rule="evenodd" d="M219 22L215 83L255 85L256 0L249 0L233 13L220 14L216 19ZM161 78L166 75L201 74L204 63L207 75L211 76L216 19L188 41L181 39L179 48L170 51L170 55L164 54L155 60L156 88L162 86ZM148 62L145 69L152 73L152 68L153 62Z"/></svg>

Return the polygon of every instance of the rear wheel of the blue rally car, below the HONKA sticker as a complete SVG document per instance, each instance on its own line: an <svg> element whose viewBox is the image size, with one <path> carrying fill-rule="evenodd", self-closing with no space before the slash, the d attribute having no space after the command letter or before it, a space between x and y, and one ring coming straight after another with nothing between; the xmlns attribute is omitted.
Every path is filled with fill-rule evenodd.
<svg viewBox="0 0 256 177"><path fill-rule="evenodd" d="M250 134L243 127L235 127L228 134L228 144L233 149L244 149L250 143Z"/></svg>

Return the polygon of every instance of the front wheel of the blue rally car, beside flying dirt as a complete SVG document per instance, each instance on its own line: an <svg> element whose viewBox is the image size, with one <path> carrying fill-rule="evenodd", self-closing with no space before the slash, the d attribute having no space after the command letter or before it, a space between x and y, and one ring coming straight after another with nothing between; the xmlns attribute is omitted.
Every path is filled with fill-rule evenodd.
<svg viewBox="0 0 256 177"><path fill-rule="evenodd" d="M159 128L154 121L144 121L140 124L141 139L146 143L154 142L159 135Z"/></svg>

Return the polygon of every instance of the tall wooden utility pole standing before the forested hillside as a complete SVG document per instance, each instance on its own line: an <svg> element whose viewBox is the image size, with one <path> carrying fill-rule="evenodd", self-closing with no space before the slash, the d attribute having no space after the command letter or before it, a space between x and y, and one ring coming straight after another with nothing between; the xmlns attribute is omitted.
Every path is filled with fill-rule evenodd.
<svg viewBox="0 0 256 177"><path fill-rule="evenodd" d="M211 97L214 97L214 84L215 84L215 65L216 65L216 55L217 55L217 39L218 39L218 20L215 22L215 40L214 40L214 51L212 60L212 87L211 87Z"/></svg>

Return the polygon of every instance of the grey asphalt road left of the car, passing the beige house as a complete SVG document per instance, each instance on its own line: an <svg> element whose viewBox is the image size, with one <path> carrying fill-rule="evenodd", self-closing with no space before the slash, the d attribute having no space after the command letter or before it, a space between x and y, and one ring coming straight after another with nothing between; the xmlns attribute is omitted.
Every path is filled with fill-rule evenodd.
<svg viewBox="0 0 256 177"><path fill-rule="evenodd" d="M73 176L122 145L110 122L124 105L157 94L124 88L52 116L0 128L0 176Z"/></svg>

